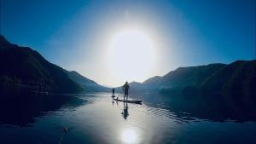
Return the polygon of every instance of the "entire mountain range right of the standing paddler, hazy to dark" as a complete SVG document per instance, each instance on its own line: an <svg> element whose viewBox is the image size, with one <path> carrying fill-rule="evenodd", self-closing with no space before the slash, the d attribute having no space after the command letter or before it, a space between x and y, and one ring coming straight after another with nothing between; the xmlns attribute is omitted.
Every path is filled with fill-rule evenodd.
<svg viewBox="0 0 256 144"><path fill-rule="evenodd" d="M137 83L135 91L159 91L161 93L213 92L224 94L255 94L256 60L237 60L229 65L178 67L160 77L148 78ZM131 84L134 85L134 84Z"/></svg>

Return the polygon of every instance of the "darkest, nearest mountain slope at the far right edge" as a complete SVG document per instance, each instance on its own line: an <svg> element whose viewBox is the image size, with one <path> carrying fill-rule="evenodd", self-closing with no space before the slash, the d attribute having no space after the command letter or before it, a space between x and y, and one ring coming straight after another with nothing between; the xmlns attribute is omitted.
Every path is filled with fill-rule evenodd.
<svg viewBox="0 0 256 144"><path fill-rule="evenodd" d="M229 95L253 96L256 92L256 60L236 60L206 78L199 88Z"/></svg>

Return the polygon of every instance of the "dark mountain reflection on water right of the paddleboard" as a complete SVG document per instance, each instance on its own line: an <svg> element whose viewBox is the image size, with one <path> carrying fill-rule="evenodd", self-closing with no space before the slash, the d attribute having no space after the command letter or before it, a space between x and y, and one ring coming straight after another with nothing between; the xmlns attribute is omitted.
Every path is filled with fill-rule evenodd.
<svg viewBox="0 0 256 144"><path fill-rule="evenodd" d="M256 121L255 110L236 101L219 99L219 96L186 97L185 95L143 95L146 112L155 116L172 118L177 123L199 121Z"/></svg>

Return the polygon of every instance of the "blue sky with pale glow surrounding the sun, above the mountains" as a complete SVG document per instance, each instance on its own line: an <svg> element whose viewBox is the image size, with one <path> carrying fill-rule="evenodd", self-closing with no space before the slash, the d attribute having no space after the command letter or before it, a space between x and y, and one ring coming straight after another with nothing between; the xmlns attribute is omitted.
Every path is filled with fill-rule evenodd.
<svg viewBox="0 0 256 144"><path fill-rule="evenodd" d="M106 76L102 57L110 34L125 26L143 27L157 39L158 59L147 77L178 66L255 59L254 0L2 0L1 5L1 33L10 42L100 84L122 82L109 84L113 78Z"/></svg>

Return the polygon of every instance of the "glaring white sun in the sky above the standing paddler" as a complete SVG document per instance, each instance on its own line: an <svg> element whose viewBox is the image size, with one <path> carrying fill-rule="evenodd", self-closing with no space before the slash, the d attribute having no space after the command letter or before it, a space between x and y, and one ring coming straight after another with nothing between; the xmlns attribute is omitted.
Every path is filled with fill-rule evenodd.
<svg viewBox="0 0 256 144"><path fill-rule="evenodd" d="M114 77L122 81L143 81L154 66L154 43L137 29L114 34L108 45L108 64Z"/></svg>

